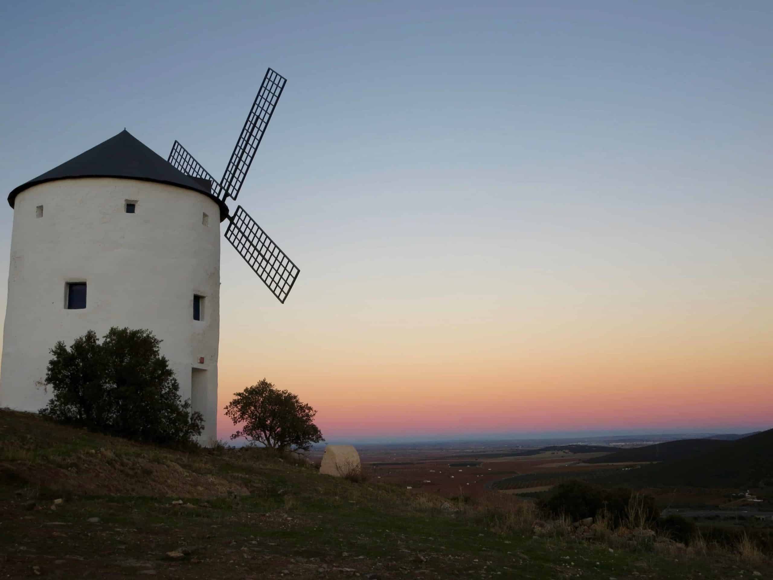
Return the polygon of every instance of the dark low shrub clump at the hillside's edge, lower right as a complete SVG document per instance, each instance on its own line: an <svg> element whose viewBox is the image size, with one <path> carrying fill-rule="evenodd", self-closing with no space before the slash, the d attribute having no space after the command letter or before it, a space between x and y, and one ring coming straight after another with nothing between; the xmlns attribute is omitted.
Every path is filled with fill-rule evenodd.
<svg viewBox="0 0 773 580"><path fill-rule="evenodd" d="M573 521L596 517L604 511L604 517L614 527L644 527L657 519L659 511L655 499L617 487L606 490L581 479L573 479L555 486L543 507L554 516L565 515Z"/></svg>

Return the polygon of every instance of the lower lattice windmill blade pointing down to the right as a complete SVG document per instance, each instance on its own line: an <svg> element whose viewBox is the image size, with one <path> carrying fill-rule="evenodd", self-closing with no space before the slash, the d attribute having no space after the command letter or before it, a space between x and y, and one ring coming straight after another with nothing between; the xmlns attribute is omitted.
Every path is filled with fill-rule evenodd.
<svg viewBox="0 0 773 580"><path fill-rule="evenodd" d="M228 218L226 240L236 248L239 255L249 264L258 278L284 304L295 278L301 272L287 254L279 249L250 214L242 206Z"/></svg>

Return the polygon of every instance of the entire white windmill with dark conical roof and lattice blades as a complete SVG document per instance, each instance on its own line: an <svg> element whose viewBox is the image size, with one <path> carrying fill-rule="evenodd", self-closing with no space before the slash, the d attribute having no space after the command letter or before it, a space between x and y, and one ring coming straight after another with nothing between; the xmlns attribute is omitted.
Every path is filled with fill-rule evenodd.
<svg viewBox="0 0 773 580"><path fill-rule="evenodd" d="M182 397L216 434L220 228L284 303L298 268L236 200L286 79L268 69L223 179L175 141L165 160L124 129L13 189L0 407L39 411L57 340L150 329Z"/></svg>

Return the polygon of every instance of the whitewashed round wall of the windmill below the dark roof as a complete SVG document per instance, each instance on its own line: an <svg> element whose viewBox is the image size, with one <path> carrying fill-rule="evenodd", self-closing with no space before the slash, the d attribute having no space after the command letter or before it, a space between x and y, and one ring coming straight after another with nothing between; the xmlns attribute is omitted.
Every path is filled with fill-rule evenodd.
<svg viewBox="0 0 773 580"><path fill-rule="evenodd" d="M136 213L125 213L136 200ZM43 206L43 217L36 217ZM209 216L205 226L203 213ZM68 281L87 282L87 307L65 309ZM193 320L193 295L206 296ZM216 435L220 338L220 209L201 193L132 179L63 179L15 200L0 407L39 411L49 349L93 329L150 329L175 370L183 398L192 368L206 370L194 394ZM203 357L204 363L199 363Z"/></svg>

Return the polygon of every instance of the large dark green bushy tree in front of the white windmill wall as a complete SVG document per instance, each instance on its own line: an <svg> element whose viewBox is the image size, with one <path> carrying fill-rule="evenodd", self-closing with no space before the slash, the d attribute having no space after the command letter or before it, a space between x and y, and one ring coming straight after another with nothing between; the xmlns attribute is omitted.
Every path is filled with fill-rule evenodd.
<svg viewBox="0 0 773 580"><path fill-rule="evenodd" d="M192 442L204 418L182 401L161 340L149 330L113 327L99 343L89 330L68 349L51 349L46 384L53 397L40 412L56 421L138 441Z"/></svg>

